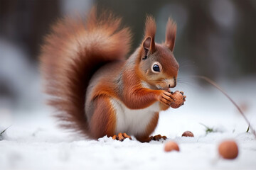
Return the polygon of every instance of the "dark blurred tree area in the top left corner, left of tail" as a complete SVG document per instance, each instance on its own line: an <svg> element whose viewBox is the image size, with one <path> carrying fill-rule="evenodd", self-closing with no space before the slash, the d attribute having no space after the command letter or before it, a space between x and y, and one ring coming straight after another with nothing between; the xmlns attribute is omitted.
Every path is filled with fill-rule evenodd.
<svg viewBox="0 0 256 170"><path fill-rule="evenodd" d="M0 36L24 46L31 60L36 60L50 23L60 14L60 1L1 0Z"/></svg>

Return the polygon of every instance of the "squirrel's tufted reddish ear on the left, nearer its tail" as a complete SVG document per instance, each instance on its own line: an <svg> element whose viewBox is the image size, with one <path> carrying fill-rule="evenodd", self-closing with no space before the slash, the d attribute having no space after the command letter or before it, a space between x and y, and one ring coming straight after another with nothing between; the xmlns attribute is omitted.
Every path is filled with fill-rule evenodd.
<svg viewBox="0 0 256 170"><path fill-rule="evenodd" d="M145 39L143 42L144 49L147 48L148 51L154 52L155 51L154 36L156 34L156 23L152 16L146 16L144 33L145 33Z"/></svg>

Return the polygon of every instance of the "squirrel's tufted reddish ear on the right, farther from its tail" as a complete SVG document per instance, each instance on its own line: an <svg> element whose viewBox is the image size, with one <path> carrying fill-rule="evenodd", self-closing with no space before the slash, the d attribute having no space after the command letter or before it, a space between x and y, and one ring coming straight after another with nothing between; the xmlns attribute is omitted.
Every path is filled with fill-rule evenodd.
<svg viewBox="0 0 256 170"><path fill-rule="evenodd" d="M165 42L165 44L167 47L169 47L171 52L174 51L176 30L177 30L176 23L171 18L169 18L168 22L166 24L166 42Z"/></svg>

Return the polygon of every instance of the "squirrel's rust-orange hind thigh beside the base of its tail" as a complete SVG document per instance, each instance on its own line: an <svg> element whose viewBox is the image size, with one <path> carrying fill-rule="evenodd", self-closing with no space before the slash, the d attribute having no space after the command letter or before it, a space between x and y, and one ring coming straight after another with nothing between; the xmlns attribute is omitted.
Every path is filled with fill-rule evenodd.
<svg viewBox="0 0 256 170"><path fill-rule="evenodd" d="M93 115L90 120L90 134L95 139L107 135L108 137L114 135L116 128L116 115L110 98L98 97L93 104Z"/></svg>

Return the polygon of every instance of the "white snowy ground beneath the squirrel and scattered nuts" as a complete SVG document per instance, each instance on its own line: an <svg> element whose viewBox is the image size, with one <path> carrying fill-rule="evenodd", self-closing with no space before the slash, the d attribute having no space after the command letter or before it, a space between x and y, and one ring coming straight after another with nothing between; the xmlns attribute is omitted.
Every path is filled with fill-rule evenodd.
<svg viewBox="0 0 256 170"><path fill-rule="evenodd" d="M245 109L256 128L256 81L220 85ZM178 142L180 152L164 152L167 141L80 139L56 128L46 109L13 117L1 111L2 129L11 127L0 141L0 169L255 169L255 137L245 132L247 124L233 104L213 87L191 83L176 89L186 93L187 101L181 108L161 113L154 134ZM218 132L206 135L200 123ZM181 137L186 130L195 137ZM238 142L237 159L218 159L218 144L226 139Z"/></svg>

